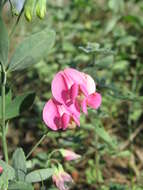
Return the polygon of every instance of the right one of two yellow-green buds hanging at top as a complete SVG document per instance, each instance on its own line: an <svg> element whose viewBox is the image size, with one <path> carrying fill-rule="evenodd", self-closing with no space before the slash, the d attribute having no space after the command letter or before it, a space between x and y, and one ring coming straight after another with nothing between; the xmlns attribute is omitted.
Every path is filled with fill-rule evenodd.
<svg viewBox="0 0 143 190"><path fill-rule="evenodd" d="M36 14L40 19L43 19L46 14L46 0L38 0L36 4Z"/></svg>

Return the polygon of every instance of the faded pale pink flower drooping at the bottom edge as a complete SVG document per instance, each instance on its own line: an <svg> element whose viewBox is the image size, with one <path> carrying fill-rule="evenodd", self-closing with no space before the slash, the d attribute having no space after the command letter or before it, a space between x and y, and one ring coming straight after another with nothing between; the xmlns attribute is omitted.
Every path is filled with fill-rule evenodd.
<svg viewBox="0 0 143 190"><path fill-rule="evenodd" d="M53 182L59 190L68 190L66 183L73 183L72 177L63 170L63 167L59 164L58 168L55 168L54 175L52 176Z"/></svg>

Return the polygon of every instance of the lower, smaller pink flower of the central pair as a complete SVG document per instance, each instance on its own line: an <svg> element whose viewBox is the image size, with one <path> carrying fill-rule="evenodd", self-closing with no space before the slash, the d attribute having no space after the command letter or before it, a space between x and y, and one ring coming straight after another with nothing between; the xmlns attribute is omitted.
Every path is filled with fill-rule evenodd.
<svg viewBox="0 0 143 190"><path fill-rule="evenodd" d="M76 125L80 125L80 113L74 110L74 105L71 109L73 110L73 114L55 99L50 99L44 106L43 120L49 128L55 131L59 129L65 130L67 128L75 128ZM74 113L76 113L76 115Z"/></svg>

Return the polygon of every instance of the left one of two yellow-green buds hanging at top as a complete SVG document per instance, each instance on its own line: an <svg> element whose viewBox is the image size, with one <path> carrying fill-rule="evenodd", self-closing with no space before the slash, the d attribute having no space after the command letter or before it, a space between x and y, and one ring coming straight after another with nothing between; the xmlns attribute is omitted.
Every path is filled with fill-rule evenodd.
<svg viewBox="0 0 143 190"><path fill-rule="evenodd" d="M35 2L36 0L27 0L25 7L24 7L24 12L25 12L25 18L30 22L32 20L32 16L34 13L34 8L35 8Z"/></svg>

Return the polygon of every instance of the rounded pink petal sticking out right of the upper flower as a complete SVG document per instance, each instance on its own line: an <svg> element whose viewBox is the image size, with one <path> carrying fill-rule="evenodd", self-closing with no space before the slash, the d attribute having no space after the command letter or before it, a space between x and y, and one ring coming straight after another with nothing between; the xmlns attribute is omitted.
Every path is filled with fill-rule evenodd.
<svg viewBox="0 0 143 190"><path fill-rule="evenodd" d="M91 108L98 109L101 105L102 97L99 93L95 92L87 97L87 104Z"/></svg>

